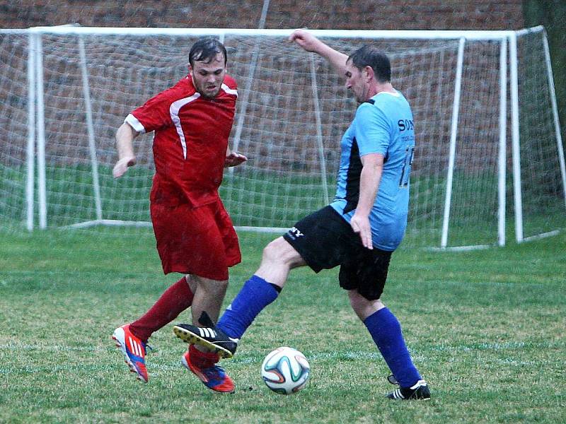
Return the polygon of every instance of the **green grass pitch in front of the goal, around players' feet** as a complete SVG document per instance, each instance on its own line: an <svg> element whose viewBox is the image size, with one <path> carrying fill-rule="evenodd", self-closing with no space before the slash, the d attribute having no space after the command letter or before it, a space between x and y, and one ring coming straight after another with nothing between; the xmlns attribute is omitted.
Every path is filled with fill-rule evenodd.
<svg viewBox="0 0 566 424"><path fill-rule="evenodd" d="M0 237L0 422L566 422L564 232L504 248L393 256L383 300L434 396L404 403L383 398L394 388L388 369L336 270L291 273L224 362L238 390L221 395L180 366L185 345L171 325L151 338L149 384L129 374L110 340L175 281L161 273L149 233ZM271 238L241 236L244 261L227 301ZM185 312L179 321L187 320ZM260 378L262 358L283 345L311 363L306 389L292 396Z"/></svg>

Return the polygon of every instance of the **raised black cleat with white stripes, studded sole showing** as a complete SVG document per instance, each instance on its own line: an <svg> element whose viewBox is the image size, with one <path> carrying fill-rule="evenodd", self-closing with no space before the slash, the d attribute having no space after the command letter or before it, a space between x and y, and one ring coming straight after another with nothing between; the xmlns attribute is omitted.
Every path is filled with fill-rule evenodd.
<svg viewBox="0 0 566 424"><path fill-rule="evenodd" d="M202 346L218 353L221 358L232 358L238 347L238 339L226 336L224 331L216 328L205 311L202 311L199 323L202 327L191 324L177 324L173 326L173 333L186 343Z"/></svg>

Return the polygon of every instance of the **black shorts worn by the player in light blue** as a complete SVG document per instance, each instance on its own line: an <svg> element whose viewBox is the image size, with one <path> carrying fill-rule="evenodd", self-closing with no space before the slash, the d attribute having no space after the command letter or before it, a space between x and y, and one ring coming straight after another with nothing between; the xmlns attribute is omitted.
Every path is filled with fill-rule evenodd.
<svg viewBox="0 0 566 424"><path fill-rule="evenodd" d="M340 287L357 289L368 300L381 297L393 252L366 249L350 223L331 206L301 219L283 238L313 271L340 265Z"/></svg>

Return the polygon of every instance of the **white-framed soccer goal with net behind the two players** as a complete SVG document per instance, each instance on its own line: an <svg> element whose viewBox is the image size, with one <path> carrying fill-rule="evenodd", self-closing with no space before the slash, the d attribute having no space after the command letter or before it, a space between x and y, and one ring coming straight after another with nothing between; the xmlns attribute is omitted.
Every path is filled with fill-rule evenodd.
<svg viewBox="0 0 566 424"><path fill-rule="evenodd" d="M2 226L150 226L151 136L138 137L139 163L115 180L115 130L186 75L188 49L202 35L224 42L238 82L231 143L250 160L226 172L221 187L236 228L282 232L327 204L356 103L323 59L287 42L291 32L0 30ZM311 32L345 53L371 43L391 57L393 86L410 101L417 134L405 244L468 249L566 227L564 150L542 27Z"/></svg>

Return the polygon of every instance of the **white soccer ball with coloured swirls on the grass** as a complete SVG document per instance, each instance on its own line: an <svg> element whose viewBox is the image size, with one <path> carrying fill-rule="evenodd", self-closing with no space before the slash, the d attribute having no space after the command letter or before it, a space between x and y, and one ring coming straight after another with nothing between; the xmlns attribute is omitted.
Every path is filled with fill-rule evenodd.
<svg viewBox="0 0 566 424"><path fill-rule="evenodd" d="M294 348L277 348L261 365L263 381L279 394L296 393L305 387L311 367L301 352Z"/></svg>

